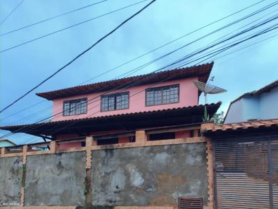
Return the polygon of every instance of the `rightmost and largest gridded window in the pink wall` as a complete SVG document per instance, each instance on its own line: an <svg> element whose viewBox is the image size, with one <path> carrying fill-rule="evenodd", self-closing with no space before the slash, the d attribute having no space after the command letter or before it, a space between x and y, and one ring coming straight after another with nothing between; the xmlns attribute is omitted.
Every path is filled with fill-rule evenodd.
<svg viewBox="0 0 278 209"><path fill-rule="evenodd" d="M146 89L146 106L179 102L179 84Z"/></svg>

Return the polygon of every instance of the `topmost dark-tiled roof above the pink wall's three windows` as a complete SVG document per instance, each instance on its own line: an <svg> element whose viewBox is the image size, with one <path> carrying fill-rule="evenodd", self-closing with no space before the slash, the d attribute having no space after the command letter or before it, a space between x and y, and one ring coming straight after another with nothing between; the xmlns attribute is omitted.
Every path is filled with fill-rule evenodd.
<svg viewBox="0 0 278 209"><path fill-rule="evenodd" d="M206 82L208 80L213 62L197 66L190 66L183 69L173 69L169 71L161 71L158 73L149 73L145 75L138 75L129 78L121 78L117 80L109 80L106 82L98 82L94 84L86 84L77 87L70 87L67 89L60 89L56 91L48 91L44 93L36 93L47 100L54 100L56 98L65 98L69 96L84 95L87 93L96 93L101 91L110 91L111 89L123 89L126 86L140 86L142 84L152 84L162 80L177 80L181 78L197 77L199 81ZM199 92L200 93L200 92Z"/></svg>

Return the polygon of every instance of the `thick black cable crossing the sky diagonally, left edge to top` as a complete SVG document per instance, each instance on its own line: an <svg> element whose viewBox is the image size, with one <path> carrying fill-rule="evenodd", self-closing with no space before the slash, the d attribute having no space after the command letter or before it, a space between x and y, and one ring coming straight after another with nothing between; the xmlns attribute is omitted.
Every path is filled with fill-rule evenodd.
<svg viewBox="0 0 278 209"><path fill-rule="evenodd" d="M59 73L60 71L62 71L63 69L65 69L65 67L69 66L70 64L72 64L72 62L74 62L75 60L77 60L79 57L81 57L83 54L87 53L88 51L90 51L91 48L93 48L94 46L96 46L97 44L99 44L103 39L105 39L106 37L110 36L111 34L113 34L117 29L119 29L121 26L123 26L124 24L126 24L126 22L128 22L130 19L132 19L133 17L136 17L136 15L138 15L140 12L142 12L143 10L145 10L145 8L149 7L152 3L154 3L153 0L150 3L148 3L146 6L144 6L142 9L140 9L138 12L136 12L135 14L131 15L131 17L129 17L128 19L124 20L119 26L117 26L116 28L114 28L113 30L111 30L111 32L107 33L106 35L104 35L104 37L101 37L97 42L95 42L95 44L92 44L92 46L90 46L89 48L87 48L85 51L83 51L82 53L80 53L79 55L77 55L76 57L74 57L73 60L71 60L70 62L68 62L67 64L65 64L63 67L61 67L60 69L58 69L58 71L56 71L55 73L53 73L52 75L50 75L48 78L46 78L45 80L43 80L42 82L40 82L40 84L36 85L35 87L33 87L33 89L27 91L26 93L24 93L23 96L17 98L17 100L15 100L14 102L12 102L11 104L8 104L8 106L6 106L5 108L1 109L0 113L3 112L4 110L8 109L8 107L11 107L13 104L15 104L16 102L18 102L19 100L21 100L22 98L24 98L26 95L28 95L28 93L31 93L33 90L37 89L38 87L40 87L40 85L42 85L44 82L47 82L47 80L49 80L50 78L54 77L54 75L56 75L57 73Z"/></svg>

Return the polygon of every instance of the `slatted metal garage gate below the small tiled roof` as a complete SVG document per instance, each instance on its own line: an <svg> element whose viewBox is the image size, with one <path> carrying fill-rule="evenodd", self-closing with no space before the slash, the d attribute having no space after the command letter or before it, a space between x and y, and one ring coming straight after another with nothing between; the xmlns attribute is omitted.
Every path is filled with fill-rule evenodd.
<svg viewBox="0 0 278 209"><path fill-rule="evenodd" d="M278 137L213 140L216 208L278 209Z"/></svg>

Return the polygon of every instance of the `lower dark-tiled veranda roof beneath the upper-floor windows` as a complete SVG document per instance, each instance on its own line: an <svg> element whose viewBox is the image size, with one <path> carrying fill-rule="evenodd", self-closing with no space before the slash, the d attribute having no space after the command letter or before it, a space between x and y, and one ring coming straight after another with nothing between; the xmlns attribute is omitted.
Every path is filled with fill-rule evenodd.
<svg viewBox="0 0 278 209"><path fill-rule="evenodd" d="M81 125L88 125L90 124L90 127L95 126L104 126L108 127L109 122L113 122L115 124L120 122L127 122L130 121L136 121L140 122L141 120L144 122L146 118L167 118L167 120L170 120L171 116L190 116L195 117L199 115L200 121L202 122L202 116L204 114L204 107L207 108L208 113L210 115L213 115L218 108L220 107L221 102L218 103L211 103L211 104L200 104L190 107L178 107L178 108L172 108L172 109L160 109L160 110L154 110L154 111L140 111L136 113L122 113L112 116L97 116L92 118L79 118L79 119L72 119L72 120L58 120L58 121L50 121L50 122L41 122L41 123L34 123L34 124L26 124L26 125L13 125L13 126L2 126L0 129L12 131L12 132L20 132L20 133L26 133L26 134L44 134L44 129L50 129L50 128L59 128L59 127L70 127L74 125L74 127L81 126ZM161 117L163 116L163 117ZM140 120L139 120L140 119ZM119 120L119 121L117 121ZM196 119L195 119L196 120ZM198 119L199 120L199 119ZM147 121L145 121L147 123ZM28 128L28 129L26 129ZM30 129L31 128L31 129Z"/></svg>

